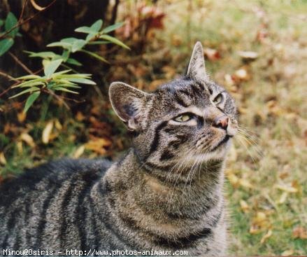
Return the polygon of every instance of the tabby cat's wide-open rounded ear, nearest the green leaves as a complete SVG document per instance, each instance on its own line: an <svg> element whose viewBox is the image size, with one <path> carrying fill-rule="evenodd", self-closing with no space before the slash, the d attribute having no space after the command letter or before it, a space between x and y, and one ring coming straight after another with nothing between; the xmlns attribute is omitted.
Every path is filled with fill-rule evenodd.
<svg viewBox="0 0 307 257"><path fill-rule="evenodd" d="M140 129L141 114L150 94L122 82L111 83L108 92L113 110L128 130Z"/></svg>

